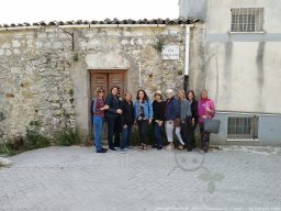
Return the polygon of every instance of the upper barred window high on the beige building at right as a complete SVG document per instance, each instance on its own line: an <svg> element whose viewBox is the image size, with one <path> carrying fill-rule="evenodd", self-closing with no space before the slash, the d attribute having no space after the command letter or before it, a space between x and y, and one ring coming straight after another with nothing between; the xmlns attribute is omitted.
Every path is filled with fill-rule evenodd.
<svg viewBox="0 0 281 211"><path fill-rule="evenodd" d="M263 8L232 9L232 32L262 32Z"/></svg>

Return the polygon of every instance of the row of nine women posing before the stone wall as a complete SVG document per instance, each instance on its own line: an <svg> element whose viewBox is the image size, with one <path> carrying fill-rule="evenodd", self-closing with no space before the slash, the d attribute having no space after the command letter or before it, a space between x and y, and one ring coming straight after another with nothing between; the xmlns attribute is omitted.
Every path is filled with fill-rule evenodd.
<svg viewBox="0 0 281 211"><path fill-rule="evenodd" d="M173 133L179 141L178 148L192 151L195 147L194 131L200 127L201 149L209 151L210 133L204 131L204 119L212 119L215 114L214 102L203 90L200 100L195 100L194 91L179 90L177 96L172 89L166 90L166 100L161 91L154 93L151 102L145 90L137 91L133 102L132 93L125 92L124 99L119 97L119 87L111 88L104 98L104 89L98 88L97 98L92 101L93 134L97 153L106 153L102 147L102 127L108 124L108 143L110 151L120 147L121 153L130 147L132 129L138 126L139 149L147 149L148 125L153 124L153 148L162 149L161 131L165 130L168 145L166 149L175 148ZM114 140L113 140L114 136Z"/></svg>

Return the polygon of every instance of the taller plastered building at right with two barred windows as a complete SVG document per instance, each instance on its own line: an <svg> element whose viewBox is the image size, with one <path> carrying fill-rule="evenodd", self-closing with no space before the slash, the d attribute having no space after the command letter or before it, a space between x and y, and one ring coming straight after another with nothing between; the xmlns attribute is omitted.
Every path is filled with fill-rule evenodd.
<svg viewBox="0 0 281 211"><path fill-rule="evenodd" d="M213 142L280 145L280 2L180 0L179 7L180 18L204 21L202 57L191 53L198 68L190 80L215 100L222 124Z"/></svg>

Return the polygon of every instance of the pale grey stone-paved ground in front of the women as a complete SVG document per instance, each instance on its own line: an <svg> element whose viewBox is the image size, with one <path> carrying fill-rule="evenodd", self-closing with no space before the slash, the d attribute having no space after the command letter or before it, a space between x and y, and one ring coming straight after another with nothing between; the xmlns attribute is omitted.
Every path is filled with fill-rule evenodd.
<svg viewBox="0 0 281 211"><path fill-rule="evenodd" d="M281 148L49 147L0 168L1 211L281 211Z"/></svg>

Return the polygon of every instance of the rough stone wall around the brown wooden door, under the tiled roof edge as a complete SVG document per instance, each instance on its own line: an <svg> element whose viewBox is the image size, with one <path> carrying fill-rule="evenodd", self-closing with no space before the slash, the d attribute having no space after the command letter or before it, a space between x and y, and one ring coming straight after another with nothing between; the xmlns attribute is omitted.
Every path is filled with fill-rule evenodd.
<svg viewBox="0 0 281 211"><path fill-rule="evenodd" d="M127 89L183 87L183 25L57 26L0 31L0 143L40 124L43 134L78 126L90 131L90 69L127 69ZM180 58L164 60L157 38L178 45ZM142 68L139 85L138 69ZM134 96L135 97L135 96Z"/></svg>

